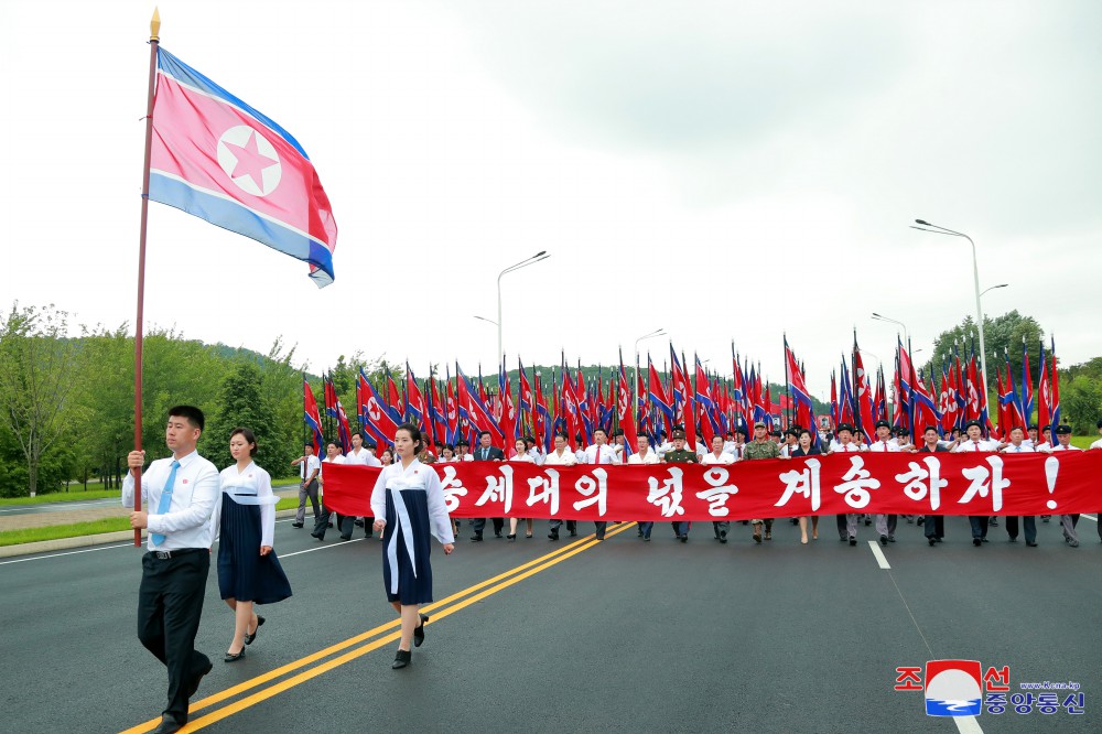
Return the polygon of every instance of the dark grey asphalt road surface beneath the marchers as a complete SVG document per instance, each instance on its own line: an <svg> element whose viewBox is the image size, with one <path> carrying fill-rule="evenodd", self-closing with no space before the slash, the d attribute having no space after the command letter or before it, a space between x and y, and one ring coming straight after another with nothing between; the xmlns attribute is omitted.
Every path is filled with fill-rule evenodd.
<svg viewBox="0 0 1102 734"><path fill-rule="evenodd" d="M687 544L668 526L650 543L634 525L602 543L552 543L542 522L532 540L464 537L452 557L435 548L425 645L393 671L381 544L320 543L280 521L294 596L261 608L248 657L226 665L233 617L212 572L196 644L215 669L190 728L1102 731L1095 522L1080 522L1079 549L1055 522L1038 525L1039 548L1006 542L1002 527L973 548L965 519L947 526L929 548L900 525L880 552L888 569L871 529L851 548L833 518L808 546L787 521L763 546L742 525L720 544L706 523ZM4 731L155 725L165 677L134 635L139 554L120 544L0 562ZM1076 681L1085 713L927 716L921 692L893 690L896 668L942 658L1008 666L1012 693Z"/></svg>

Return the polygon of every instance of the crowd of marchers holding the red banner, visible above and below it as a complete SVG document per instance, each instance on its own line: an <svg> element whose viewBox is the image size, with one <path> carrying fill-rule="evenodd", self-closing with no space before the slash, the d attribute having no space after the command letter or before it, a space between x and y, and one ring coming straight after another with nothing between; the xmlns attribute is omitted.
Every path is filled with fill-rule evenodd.
<svg viewBox="0 0 1102 734"><path fill-rule="evenodd" d="M1098 423L1099 432L1102 434L1102 420ZM699 464L734 464L741 461L754 461L760 458L787 458L796 456L827 455L834 453L850 452L997 452L997 453L1052 453L1061 451L1080 451L1071 444L1071 428L1069 425L1057 425L1056 440L1052 440L1051 427L1037 425L1015 427L1008 432L1005 441L993 441L983 438L983 425L979 421L970 421L964 430L954 430L952 434L942 439L941 433L934 427L928 427L921 434L918 445L909 439L910 431L904 428L893 428L887 421L880 420L875 424L875 439L864 440L864 433L853 425L842 423L832 433L811 431L806 428L793 427L787 431L769 431L764 422L754 424L753 435L747 435L744 429L728 431L725 436L715 435L712 438L711 446L705 446L700 441L694 446L689 446L685 440L685 432L676 428L667 440L662 434L661 441L652 445L646 435L639 435L637 445L634 447L626 445L626 438L623 430L615 430L609 436L603 429L593 431L593 442L585 441L585 436L575 436L576 449L571 449L568 436L558 434L554 436L554 446L551 451L544 452L539 442L532 436L517 439L508 453L493 445L493 436L489 431L479 434L478 444L472 451L467 441L461 440L454 446L437 442L435 450L425 446L418 455L423 464L429 463L452 463L471 461L493 461L493 462L529 462L537 465L576 465L576 464L662 464L662 463L699 463ZM353 449L347 454L341 453L341 446L336 442L331 442L326 446L326 457L318 462L312 455L312 446L306 445L305 455L295 461L303 464L302 485L300 488L299 512L294 527L301 528L304 523L305 503L307 498L313 503L315 526L313 536L317 539L325 537L325 530L332 527L329 512L318 511L317 505L317 481L324 482L324 464L334 463L357 463L367 466L388 466L393 462L392 452L387 449L379 457L375 455L375 444L366 444L360 433L352 435ZM1091 449L1102 449L1102 439L1091 444ZM625 458L626 457L626 458ZM306 465L311 467L309 471ZM925 526L925 536L930 546L936 546L944 540L944 517L943 516L903 516L908 523ZM1042 515L1041 522L1049 522L1050 516ZM864 522L865 526L875 522L876 535L880 544L886 546L895 542L895 532L899 516L897 515L860 515L847 514L836 516L836 529L839 540L849 542L851 546L857 543L857 528ZM1018 518L1014 516L1003 518L1006 523L1007 538L1011 542L1016 542L1019 530L1024 530L1026 544L1037 546L1036 518L1026 516ZM509 530L505 536L508 540L516 540L519 522L525 522L525 537L532 537L531 518L511 517ZM1076 548L1080 539L1078 535L1079 515L1061 515L1061 531L1065 541ZM800 527L800 541L808 543L819 537L819 517L791 518L792 525ZM969 516L969 523L972 531L972 543L982 546L987 540L987 531L991 527L997 527L1000 518L986 516ZM363 518L342 518L341 538L349 540L352 538L354 523L364 527ZM566 520L566 531L571 537L577 535L576 523ZM548 538L558 540L562 528L562 520L551 520ZM773 539L774 518L760 518L743 520L743 525L753 526L753 540L757 543ZM809 536L810 525L810 536ZM505 518L493 519L494 533L503 537L505 532ZM604 539L606 523L596 523L596 538ZM690 522L673 522L673 532L677 540L688 542ZM721 543L727 542L731 531L730 522L713 522L713 533L715 540ZM453 520L453 530L458 535L460 521ZM469 540L479 542L483 540L486 520L476 518L471 523L472 535ZM640 522L638 536L645 540L650 540L653 522ZM369 531L368 531L369 532ZM1102 529L1099 531L1102 539Z"/></svg>

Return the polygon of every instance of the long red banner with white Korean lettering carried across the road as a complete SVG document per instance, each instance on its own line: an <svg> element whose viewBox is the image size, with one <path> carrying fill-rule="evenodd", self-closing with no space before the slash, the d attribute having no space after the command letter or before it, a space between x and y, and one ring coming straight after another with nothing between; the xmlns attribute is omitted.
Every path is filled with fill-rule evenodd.
<svg viewBox="0 0 1102 734"><path fill-rule="evenodd" d="M453 517L743 520L763 517L1066 515L1102 509L1102 451L834 454L699 464L433 464ZM379 468L329 464L325 505L370 516Z"/></svg>

